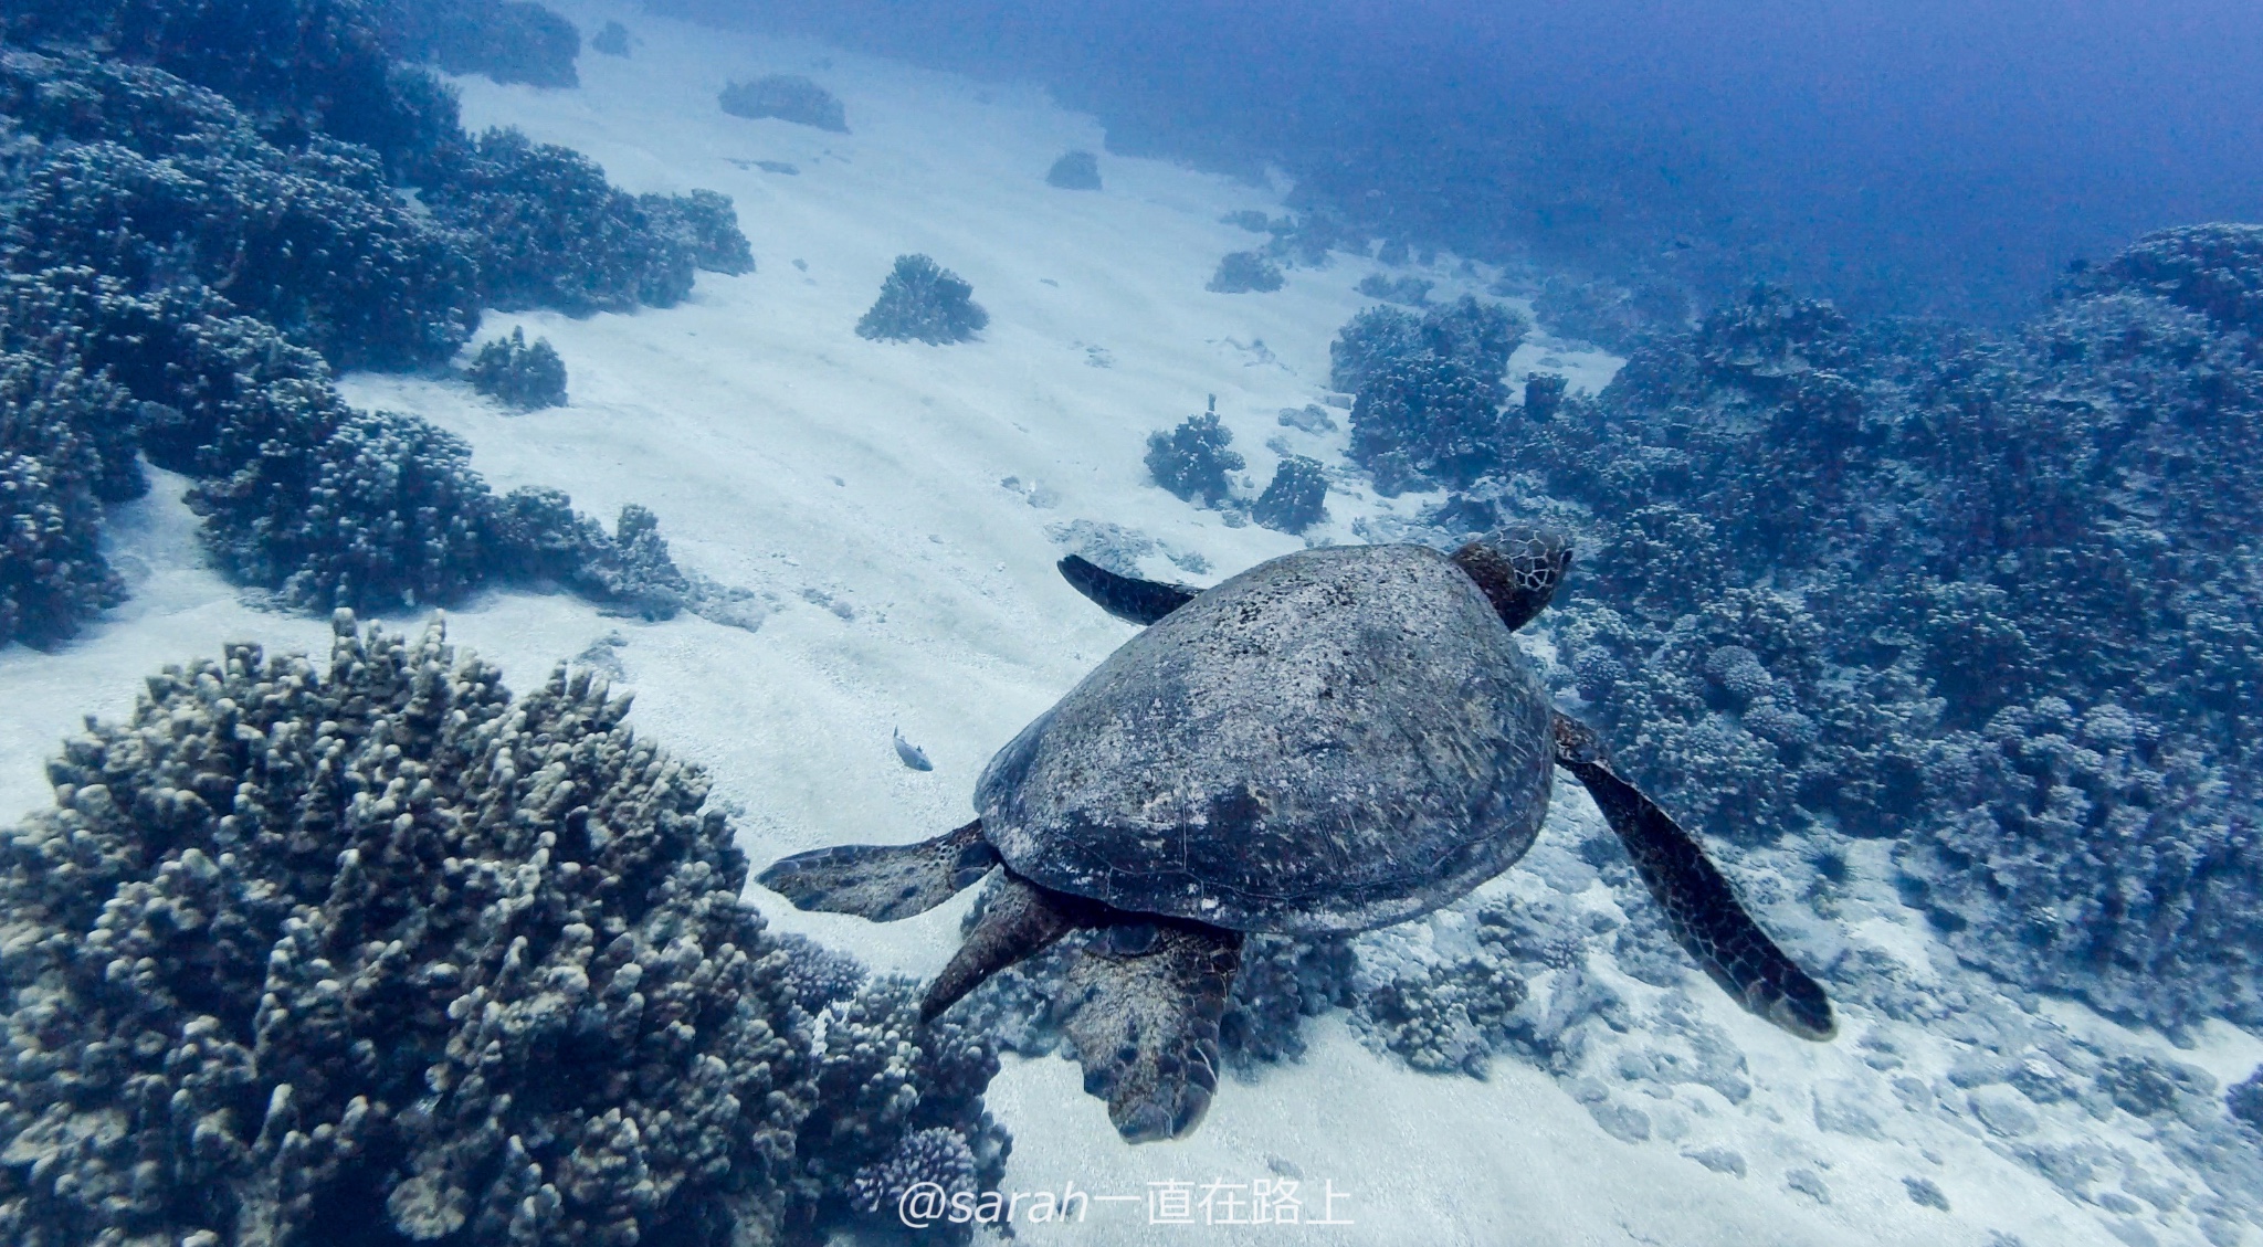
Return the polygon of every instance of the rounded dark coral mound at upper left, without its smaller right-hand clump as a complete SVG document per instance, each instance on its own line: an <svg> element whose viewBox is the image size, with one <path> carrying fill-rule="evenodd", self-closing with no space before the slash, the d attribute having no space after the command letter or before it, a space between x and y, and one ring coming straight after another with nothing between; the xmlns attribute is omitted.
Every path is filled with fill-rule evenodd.
<svg viewBox="0 0 2263 1247"><path fill-rule="evenodd" d="M136 287L201 281L339 367L419 367L475 321L475 272L385 186L373 152L269 145L165 72L0 52L23 138L5 265L91 267Z"/></svg>

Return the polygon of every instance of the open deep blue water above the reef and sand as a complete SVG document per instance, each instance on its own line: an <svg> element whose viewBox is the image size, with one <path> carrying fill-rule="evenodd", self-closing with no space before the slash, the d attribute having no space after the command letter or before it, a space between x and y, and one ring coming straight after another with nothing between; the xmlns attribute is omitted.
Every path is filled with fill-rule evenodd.
<svg viewBox="0 0 2263 1247"><path fill-rule="evenodd" d="M2003 319L2075 256L2263 217L2252 0L654 7L1036 79L1111 149L1270 158L1417 242L1700 287Z"/></svg>

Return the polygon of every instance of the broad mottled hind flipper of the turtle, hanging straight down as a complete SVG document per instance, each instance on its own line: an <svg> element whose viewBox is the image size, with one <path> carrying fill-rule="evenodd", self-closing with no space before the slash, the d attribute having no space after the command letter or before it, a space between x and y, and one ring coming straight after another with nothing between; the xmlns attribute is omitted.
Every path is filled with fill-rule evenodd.
<svg viewBox="0 0 2263 1247"><path fill-rule="evenodd" d="M1217 1018L1242 966L1242 935L1181 921L1102 930L1068 971L1068 1039L1084 1091L1109 1102L1127 1143L1179 1138L1217 1093Z"/></svg>

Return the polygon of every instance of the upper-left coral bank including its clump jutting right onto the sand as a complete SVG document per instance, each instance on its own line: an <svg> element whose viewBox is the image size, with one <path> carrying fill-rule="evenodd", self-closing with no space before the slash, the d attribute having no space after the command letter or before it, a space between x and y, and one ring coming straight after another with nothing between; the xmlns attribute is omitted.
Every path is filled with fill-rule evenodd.
<svg viewBox="0 0 2263 1247"><path fill-rule="evenodd" d="M158 70L0 54L0 109L38 140L18 154L7 267L204 281L339 367L446 360L482 301L670 306L695 267L751 269L729 197L631 197L570 149L464 136L430 77L387 84L394 147L274 145L229 100ZM403 177L430 217L387 186Z"/></svg>

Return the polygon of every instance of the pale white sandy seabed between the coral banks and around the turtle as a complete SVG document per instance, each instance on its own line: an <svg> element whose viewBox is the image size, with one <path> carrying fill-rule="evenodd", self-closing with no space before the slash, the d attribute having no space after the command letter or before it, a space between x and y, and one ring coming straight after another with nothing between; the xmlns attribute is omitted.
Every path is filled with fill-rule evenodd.
<svg viewBox="0 0 2263 1247"><path fill-rule="evenodd" d="M742 806L756 862L846 840L914 840L964 822L987 756L1129 636L1052 573L1059 548L1046 523L1143 530L1206 557L1213 573L1197 582L1299 548L1179 502L1141 464L1147 432L1199 412L1206 394L1254 487L1272 475L1274 437L1342 462L1342 432L1310 437L1274 414L1326 392L1326 344L1365 303L1353 283L1371 267L1290 272L1276 294L1204 292L1217 256L1260 242L1220 215L1279 213L1274 190L1111 156L1104 192L1055 190L1043 183L1052 158L1100 149L1100 131L1036 95L640 14L573 16L584 27L620 16L643 43L627 61L586 52L579 91L466 79L466 122L577 147L629 190L733 195L760 272L702 274L674 310L489 317L487 335L525 324L557 344L570 369L566 410L518 416L453 380L394 376L351 376L346 394L464 435L498 489L563 487L604 518L622 502L649 505L679 564L763 593L774 613L758 631L699 618L647 625L523 593L453 611L450 634L500 661L516 688L618 634L622 683L638 693L634 722L715 774L720 794ZM758 72L819 77L846 102L853 134L715 109L726 77ZM785 161L799 174L731 161ZM991 312L980 342L935 349L851 333L903 251L973 283ZM1448 296L1480 285L1432 276ZM1516 371L1539 355L1525 346ZM1582 387L1616 367L1602 355L1561 360ZM1050 505L1030 502L1032 482ZM324 620L244 609L199 570L179 484L161 480L115 525L134 602L54 654L0 652L0 808L45 801L41 758L54 740L86 711L124 713L145 672L233 638L326 645ZM1421 502L1333 493L1317 536L1349 541L1353 518ZM1161 559L1150 570L1184 575ZM901 767L892 729L921 745L935 772ZM1584 797L1559 801L1559 824L1593 817ZM878 966L932 973L964 901L894 926L799 914L774 898L765 910ZM1887 905L1849 937L1917 969L1948 962L1921 923ZM1657 996L1625 984L1632 998ZM1301 1064L1254 1084L1229 1080L1208 1123L1172 1145L1118 1143L1073 1064L1009 1059L991 1089L991 1109L1016 1136L1005 1186L1075 1181L1145 1197L1150 1181L1294 1172L1306 1215L1319 1215L1322 1184L1351 1193L1337 1204L1349 1227L1150 1227L1145 1204L1111 1204L1073 1233L1025 1224L1030 1242L1933 1247L1980 1245L1996 1229L2032 1247L2116 1242L2098 1209L2068 1202L1969 1127L1901 1113L1856 1059L1872 1018L1849 1016L1844 1039L1806 1046L1711 994L1700 1012L1745 1050L1756 1093L1729 1104L1681 1089L1650 1109L1684 1138L1647 1143L1611 1138L1564 1086L1514 1059L1498 1059L1489 1082L1417 1075L1362 1048L1340 1016L1313 1025ZM2227 1066L2254 1059L2252 1037L2238 1032L2211 1050ZM1824 1082L1869 1095L1883 1136L1817 1129ZM1733 1145L1749 1175L1684 1159L1700 1145ZM1795 1168L1817 1172L1831 1204L1786 1190ZM1903 1175L1937 1181L1953 1213L1912 1204ZM2191 1218L2154 1231L2197 1242Z"/></svg>

